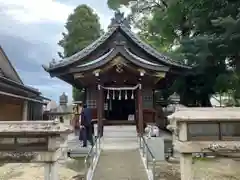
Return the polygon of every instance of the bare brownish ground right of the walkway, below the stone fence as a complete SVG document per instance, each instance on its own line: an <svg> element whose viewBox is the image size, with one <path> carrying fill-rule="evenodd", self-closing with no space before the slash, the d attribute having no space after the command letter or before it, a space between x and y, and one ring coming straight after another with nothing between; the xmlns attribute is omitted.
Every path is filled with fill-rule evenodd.
<svg viewBox="0 0 240 180"><path fill-rule="evenodd" d="M231 159L200 159L193 164L194 180L240 180L240 162ZM179 163L159 163L159 180L180 180Z"/></svg>

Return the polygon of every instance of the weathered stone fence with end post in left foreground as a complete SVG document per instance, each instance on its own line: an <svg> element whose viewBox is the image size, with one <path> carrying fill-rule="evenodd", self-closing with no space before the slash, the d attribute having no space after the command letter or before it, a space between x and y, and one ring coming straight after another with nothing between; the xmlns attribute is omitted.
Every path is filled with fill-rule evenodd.
<svg viewBox="0 0 240 180"><path fill-rule="evenodd" d="M0 121L0 163L44 163L44 180L59 180L57 162L67 157L72 132L58 121Z"/></svg>

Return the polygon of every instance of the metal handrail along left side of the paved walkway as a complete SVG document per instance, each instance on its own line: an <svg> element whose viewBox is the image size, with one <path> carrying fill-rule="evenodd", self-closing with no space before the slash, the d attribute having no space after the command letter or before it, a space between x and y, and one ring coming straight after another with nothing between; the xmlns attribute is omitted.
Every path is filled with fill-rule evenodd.
<svg viewBox="0 0 240 180"><path fill-rule="evenodd" d="M100 152L100 149L101 149L100 143L101 142L100 142L100 136L99 135L95 137L93 143L94 143L93 146L88 151L88 154L84 159L84 164L85 164L85 169L86 170L89 169L89 168L93 169L93 161ZM95 152L94 152L94 150L95 150Z"/></svg>

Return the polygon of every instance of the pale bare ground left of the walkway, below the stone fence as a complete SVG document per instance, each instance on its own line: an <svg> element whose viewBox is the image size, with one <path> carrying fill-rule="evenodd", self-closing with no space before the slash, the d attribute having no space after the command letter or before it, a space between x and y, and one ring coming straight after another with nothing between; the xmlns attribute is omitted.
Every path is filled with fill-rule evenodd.
<svg viewBox="0 0 240 180"><path fill-rule="evenodd" d="M84 171L83 160L71 160L59 164L60 180L78 180ZM43 164L4 164L0 167L0 180L43 180Z"/></svg>

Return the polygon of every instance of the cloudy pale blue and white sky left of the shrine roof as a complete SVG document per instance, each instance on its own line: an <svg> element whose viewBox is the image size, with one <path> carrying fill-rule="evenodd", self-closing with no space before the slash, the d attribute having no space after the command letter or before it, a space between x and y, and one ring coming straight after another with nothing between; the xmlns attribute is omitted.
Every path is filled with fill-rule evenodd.
<svg viewBox="0 0 240 180"><path fill-rule="evenodd" d="M25 84L58 101L62 92L72 97L71 87L50 78L41 65L58 58L64 24L73 9L87 4L107 28L113 12L107 0L0 0L0 44Z"/></svg>

